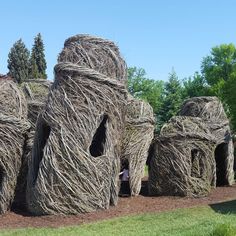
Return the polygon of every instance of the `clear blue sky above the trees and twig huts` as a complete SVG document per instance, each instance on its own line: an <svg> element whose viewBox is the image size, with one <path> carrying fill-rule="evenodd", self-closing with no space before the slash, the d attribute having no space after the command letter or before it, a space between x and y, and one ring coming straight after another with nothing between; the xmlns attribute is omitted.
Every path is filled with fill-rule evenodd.
<svg viewBox="0 0 236 236"><path fill-rule="evenodd" d="M40 32L53 79L65 39L87 33L116 42L128 66L151 79L167 80L172 67L182 79L200 70L213 46L236 44L235 11L234 0L1 1L0 73L13 43L22 38L31 49Z"/></svg>

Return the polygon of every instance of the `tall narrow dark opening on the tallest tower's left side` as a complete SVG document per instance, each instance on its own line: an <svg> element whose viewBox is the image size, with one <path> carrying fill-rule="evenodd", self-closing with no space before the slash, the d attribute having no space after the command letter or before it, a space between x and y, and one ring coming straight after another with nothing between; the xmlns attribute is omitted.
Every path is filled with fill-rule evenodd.
<svg viewBox="0 0 236 236"><path fill-rule="evenodd" d="M51 127L43 120L40 119L37 127L38 136L35 138L35 147L33 149L33 168L34 168L34 183L37 180L39 165L43 159L43 152L51 133Z"/></svg>

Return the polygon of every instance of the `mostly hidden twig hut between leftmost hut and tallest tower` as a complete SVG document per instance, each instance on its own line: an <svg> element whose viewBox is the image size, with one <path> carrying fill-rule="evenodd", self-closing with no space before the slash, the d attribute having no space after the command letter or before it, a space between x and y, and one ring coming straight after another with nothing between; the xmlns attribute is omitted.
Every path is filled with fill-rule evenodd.
<svg viewBox="0 0 236 236"><path fill-rule="evenodd" d="M25 80L21 84L21 89L24 92L27 101L27 118L31 124L31 127L27 132L22 166L18 176L18 183L14 199L14 206L17 208L26 208L28 160L31 156L31 150L33 147L37 118L46 104L50 85L51 82L45 79L29 79Z"/></svg>

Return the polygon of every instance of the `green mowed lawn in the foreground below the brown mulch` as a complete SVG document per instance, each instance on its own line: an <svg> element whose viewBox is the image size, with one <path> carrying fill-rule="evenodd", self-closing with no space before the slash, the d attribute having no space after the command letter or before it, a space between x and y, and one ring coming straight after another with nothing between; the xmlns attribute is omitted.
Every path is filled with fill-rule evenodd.
<svg viewBox="0 0 236 236"><path fill-rule="evenodd" d="M236 236L236 201L57 229L1 230L0 235Z"/></svg>

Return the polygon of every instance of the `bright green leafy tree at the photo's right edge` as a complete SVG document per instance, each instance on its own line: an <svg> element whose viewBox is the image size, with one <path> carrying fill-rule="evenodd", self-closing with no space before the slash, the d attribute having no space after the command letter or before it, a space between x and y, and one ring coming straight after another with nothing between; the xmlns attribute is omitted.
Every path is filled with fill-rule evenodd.
<svg viewBox="0 0 236 236"><path fill-rule="evenodd" d="M211 86L212 94L218 96L229 109L230 119L236 130L236 48L222 44L211 50L202 62L202 74Z"/></svg>

